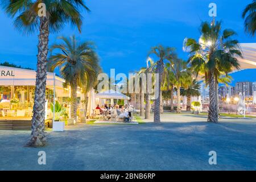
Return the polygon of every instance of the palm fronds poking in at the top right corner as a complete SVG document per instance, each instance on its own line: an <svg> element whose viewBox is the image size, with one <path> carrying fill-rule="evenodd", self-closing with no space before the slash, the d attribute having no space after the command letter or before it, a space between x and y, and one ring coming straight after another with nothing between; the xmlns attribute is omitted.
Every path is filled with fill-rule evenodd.
<svg viewBox="0 0 256 182"><path fill-rule="evenodd" d="M256 31L256 0L245 7L242 18L245 19L245 31L254 36Z"/></svg>

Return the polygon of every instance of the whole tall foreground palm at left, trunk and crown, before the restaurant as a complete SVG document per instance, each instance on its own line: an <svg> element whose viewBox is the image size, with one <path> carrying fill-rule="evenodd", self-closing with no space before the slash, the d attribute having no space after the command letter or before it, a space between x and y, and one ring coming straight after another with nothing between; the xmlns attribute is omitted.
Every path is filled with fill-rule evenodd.
<svg viewBox="0 0 256 182"><path fill-rule="evenodd" d="M39 3L46 5L46 16L39 16ZM44 115L46 102L46 66L48 55L49 31L59 32L65 23L71 22L81 31L80 10L89 11L82 1L25 1L2 0L3 9L14 20L18 30L28 34L39 30L38 61L36 71L35 102L32 117L31 139L27 146L40 147L46 144Z"/></svg>

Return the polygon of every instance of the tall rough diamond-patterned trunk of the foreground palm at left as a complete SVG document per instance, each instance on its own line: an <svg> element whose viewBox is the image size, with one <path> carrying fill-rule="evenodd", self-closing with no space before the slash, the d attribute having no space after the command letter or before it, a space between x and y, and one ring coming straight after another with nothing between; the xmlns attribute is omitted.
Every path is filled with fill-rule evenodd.
<svg viewBox="0 0 256 182"><path fill-rule="evenodd" d="M48 18L40 18L38 45L38 63L36 71L35 103L33 107L31 139L27 143L29 147L42 147L46 144L45 129L45 105L46 105L46 65L49 42Z"/></svg>

